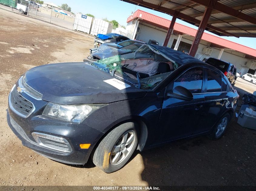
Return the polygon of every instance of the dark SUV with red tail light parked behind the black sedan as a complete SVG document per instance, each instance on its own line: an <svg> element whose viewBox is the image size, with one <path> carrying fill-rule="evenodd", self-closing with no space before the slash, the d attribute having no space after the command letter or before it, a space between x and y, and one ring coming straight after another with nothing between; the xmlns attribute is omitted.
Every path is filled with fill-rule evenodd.
<svg viewBox="0 0 256 191"><path fill-rule="evenodd" d="M228 78L228 81L232 86L234 86L237 79L237 72L234 64L216 58L208 58L204 62L218 68Z"/></svg>

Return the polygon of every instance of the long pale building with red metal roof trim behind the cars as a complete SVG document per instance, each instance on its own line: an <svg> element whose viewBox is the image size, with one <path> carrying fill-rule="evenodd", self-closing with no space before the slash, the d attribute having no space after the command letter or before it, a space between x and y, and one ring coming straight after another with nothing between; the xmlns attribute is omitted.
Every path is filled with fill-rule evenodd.
<svg viewBox="0 0 256 191"><path fill-rule="evenodd" d="M137 10L127 18L127 37L148 43L156 40L160 46L164 44L171 21L145 11ZM175 23L174 30L168 42L168 47L188 53L197 30ZM196 58L203 60L209 57L231 62L241 75L256 73L256 49L234 43L220 37L204 33Z"/></svg>

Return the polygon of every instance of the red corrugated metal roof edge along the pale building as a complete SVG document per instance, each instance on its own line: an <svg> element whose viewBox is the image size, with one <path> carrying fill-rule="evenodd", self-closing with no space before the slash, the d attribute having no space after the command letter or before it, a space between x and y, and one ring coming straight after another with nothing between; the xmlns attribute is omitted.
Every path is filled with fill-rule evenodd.
<svg viewBox="0 0 256 191"><path fill-rule="evenodd" d="M135 11L135 13L133 13L133 15L129 16L127 18L127 22L130 22L134 19L140 18L142 22L148 23L148 24L152 24L154 26L157 27L161 27L164 28L166 30L168 30L171 21L162 17L158 17L154 14L150 14L148 12L145 11L141 11L141 10L137 10ZM191 27L187 27L185 25L182 24L178 24L175 23L174 25L174 31L177 31L178 33L184 33L184 34L188 34L191 35L193 37L195 37L197 30L193 29ZM232 30L232 33L248 33L246 31L237 31L237 30ZM256 31L254 31L256 32ZM229 49L233 49L236 50L238 52L241 53L245 53L251 56L255 56L256 57L256 49L250 48L248 46L244 46L238 43L234 43L232 41L229 40L225 40L223 38L220 37L216 37L214 35L208 34L208 33L203 33L202 36L202 40L208 41L210 43L214 43L214 44L218 44L219 46L223 46Z"/></svg>

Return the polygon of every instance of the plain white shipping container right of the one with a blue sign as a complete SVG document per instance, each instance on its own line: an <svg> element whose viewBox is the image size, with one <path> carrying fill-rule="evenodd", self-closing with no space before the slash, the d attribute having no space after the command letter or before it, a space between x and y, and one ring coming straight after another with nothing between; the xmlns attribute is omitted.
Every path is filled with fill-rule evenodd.
<svg viewBox="0 0 256 191"><path fill-rule="evenodd" d="M92 26L91 26L91 35L97 35L97 34L107 34L111 33L113 28L112 23L108 23L106 21L103 21L101 19L94 19Z"/></svg>

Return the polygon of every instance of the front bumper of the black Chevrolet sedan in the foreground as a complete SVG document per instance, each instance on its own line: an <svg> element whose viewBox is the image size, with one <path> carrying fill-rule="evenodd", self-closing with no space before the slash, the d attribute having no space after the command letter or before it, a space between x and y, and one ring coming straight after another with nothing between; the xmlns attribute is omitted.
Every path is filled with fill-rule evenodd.
<svg viewBox="0 0 256 191"><path fill-rule="evenodd" d="M17 91L17 88L14 88L13 91ZM17 111L11 109L9 102L7 121L15 135L22 141L22 145L62 163L87 163L93 147L104 133L87 126L85 120L82 123L66 123L42 116L42 111L48 102L35 100L24 92L21 94L35 105L35 110L24 118L18 115ZM67 153L39 145L33 138L32 132L65 138L71 145L72 151ZM90 143L91 146L88 149L81 149L79 145L85 143Z"/></svg>

